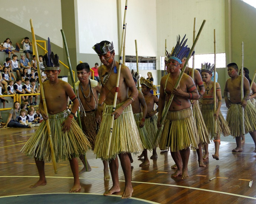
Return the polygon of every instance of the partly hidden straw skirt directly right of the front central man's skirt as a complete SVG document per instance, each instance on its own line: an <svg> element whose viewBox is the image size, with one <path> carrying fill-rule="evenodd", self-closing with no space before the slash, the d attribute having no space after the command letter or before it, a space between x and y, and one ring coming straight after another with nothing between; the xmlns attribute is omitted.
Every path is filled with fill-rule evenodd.
<svg viewBox="0 0 256 204"><path fill-rule="evenodd" d="M142 145L145 147L145 149L148 149L148 150L154 149L153 140L152 138L148 137L148 133L145 128L145 125L143 126L143 128L140 128L140 122L141 122L143 113L135 113L133 115L134 115L134 119L140 134Z"/></svg>

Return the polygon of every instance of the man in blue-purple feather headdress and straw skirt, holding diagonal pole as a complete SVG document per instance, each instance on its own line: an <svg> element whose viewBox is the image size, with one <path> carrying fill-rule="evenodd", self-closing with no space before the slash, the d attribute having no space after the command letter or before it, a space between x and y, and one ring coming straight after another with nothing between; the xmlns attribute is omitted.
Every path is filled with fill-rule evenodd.
<svg viewBox="0 0 256 204"><path fill-rule="evenodd" d="M158 128L160 128L165 98L170 99L171 94L173 94L174 98L164 122L159 147L160 149L164 149L165 146L171 148L171 156L177 165L176 172L171 176L177 177L182 173L182 178L187 179L189 178L189 147L192 145L192 147L198 148L199 143L190 100L197 100L199 95L193 79L186 74L183 74L178 89L174 88L181 72L180 68L183 66L181 59L183 59L184 56L188 56L190 51L190 49L185 46L187 40L185 40L184 43L183 40L180 42L179 36L177 45L173 48L171 55L168 54L165 59L169 74L163 76L160 83L157 125Z"/></svg>

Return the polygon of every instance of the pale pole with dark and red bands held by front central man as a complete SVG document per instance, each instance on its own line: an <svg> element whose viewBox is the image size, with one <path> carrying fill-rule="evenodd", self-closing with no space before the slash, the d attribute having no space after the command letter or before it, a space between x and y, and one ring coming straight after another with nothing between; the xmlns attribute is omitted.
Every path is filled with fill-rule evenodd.
<svg viewBox="0 0 256 204"><path fill-rule="evenodd" d="M123 58L122 55L123 55L123 48L124 48L124 33L125 33L124 30L125 30L127 4L128 4L128 0L125 1L124 23L123 23L123 30L122 30L122 42L121 42L121 49L120 49L120 55L119 55L119 67L118 67L117 80L116 80L116 89L115 89L115 98L114 98L114 104L113 104L113 112L115 111L115 108L116 108L116 100L117 100L120 72L121 72L121 66L122 66L122 58ZM112 138L112 132L113 132L113 126L114 126L114 117L115 117L115 115L112 115L109 141L108 141L108 149L107 149L107 156L109 155L109 150L110 150L110 144L111 144L111 138Z"/></svg>

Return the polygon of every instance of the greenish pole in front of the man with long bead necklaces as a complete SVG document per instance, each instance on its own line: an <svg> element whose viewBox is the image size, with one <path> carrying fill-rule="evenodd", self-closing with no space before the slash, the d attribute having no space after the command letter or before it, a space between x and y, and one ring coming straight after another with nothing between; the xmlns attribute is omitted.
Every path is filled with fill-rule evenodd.
<svg viewBox="0 0 256 204"><path fill-rule="evenodd" d="M62 39L63 39L63 43L64 43L65 50L66 50L66 56L67 56L67 60L68 60L69 73L70 73L70 78L71 78L71 82L72 82L72 85L73 85L73 90L74 90L75 95L77 96L77 94L76 94L76 85L75 85L75 80L73 78L72 66L71 66L71 63L70 63L69 52L68 52L68 45L67 45L65 33L64 33L63 29L61 29L60 32L62 34ZM79 124L80 128L82 129L79 109L77 109L76 113L77 113L78 124ZM86 154L84 154L84 158L83 159L84 159L84 162L85 162L85 170L88 171Z"/></svg>

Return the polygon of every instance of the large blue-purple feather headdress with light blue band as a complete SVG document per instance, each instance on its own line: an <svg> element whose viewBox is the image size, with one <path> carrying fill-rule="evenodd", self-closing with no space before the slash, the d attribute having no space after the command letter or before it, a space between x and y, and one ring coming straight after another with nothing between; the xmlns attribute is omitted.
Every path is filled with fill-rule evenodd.
<svg viewBox="0 0 256 204"><path fill-rule="evenodd" d="M185 37L186 37L186 34L184 35L183 39L180 42L180 35L179 35L179 37L177 36L177 44L176 44L175 47L173 47L173 50L171 51L171 53L168 53L167 50L166 50L166 56L165 56L165 61L166 62L169 59L174 59L178 63L181 64L182 59L187 58L187 56L190 52L190 48L186 45L188 39L186 39L184 41ZM194 53L195 52L193 51L192 55L194 55Z"/></svg>

